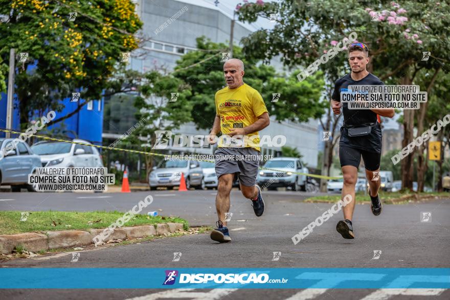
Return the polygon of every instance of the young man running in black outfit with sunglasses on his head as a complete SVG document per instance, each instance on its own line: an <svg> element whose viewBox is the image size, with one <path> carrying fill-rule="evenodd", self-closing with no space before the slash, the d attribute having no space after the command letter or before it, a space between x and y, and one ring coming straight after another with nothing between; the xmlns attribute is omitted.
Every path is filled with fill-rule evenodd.
<svg viewBox="0 0 450 300"><path fill-rule="evenodd" d="M343 238L353 239L355 236L351 220L355 208L355 184L358 178L361 156L363 156L366 177L369 182L372 213L378 216L383 209L378 196L381 180L376 180L377 175L379 178L381 159L381 127L377 114L392 118L394 109L349 109L348 103L341 103L341 92L349 91L349 85L384 85L383 81L366 70L370 58L369 49L365 43L355 42L350 44L348 60L352 71L336 80L330 104L334 114L340 114L341 107L344 112L344 126L341 127L341 140L339 142L339 159L344 175L342 196L349 194L353 199L346 206L343 206L344 220L338 222L336 230Z"/></svg>

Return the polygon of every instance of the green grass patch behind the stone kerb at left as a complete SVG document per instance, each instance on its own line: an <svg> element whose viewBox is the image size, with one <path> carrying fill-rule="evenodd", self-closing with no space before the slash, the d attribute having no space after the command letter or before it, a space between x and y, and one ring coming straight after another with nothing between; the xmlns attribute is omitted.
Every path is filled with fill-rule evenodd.
<svg viewBox="0 0 450 300"><path fill-rule="evenodd" d="M27 221L20 221L19 211L0 212L0 235L11 235L27 232L51 230L89 230L91 228L106 228L123 216L121 212L30 212ZM135 215L124 226L154 225L157 223L183 223L188 229L188 221L178 217L148 217Z"/></svg>

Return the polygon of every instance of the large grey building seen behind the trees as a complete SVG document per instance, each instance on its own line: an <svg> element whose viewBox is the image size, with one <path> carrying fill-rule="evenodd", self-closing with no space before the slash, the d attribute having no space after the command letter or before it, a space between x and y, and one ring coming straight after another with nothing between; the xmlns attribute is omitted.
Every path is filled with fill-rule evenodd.
<svg viewBox="0 0 450 300"><path fill-rule="evenodd" d="M147 72L150 70L173 70L176 61L189 51L196 50L196 38L205 36L213 42L227 43L230 40L232 15L208 2L193 0L139 0L137 13L141 17L144 26L143 32L151 38L146 42L139 53L132 55L130 67L133 70ZM173 16L176 16L173 17ZM173 17L173 18L172 18ZM168 21L169 20L169 21ZM170 22L170 24L169 24ZM234 44L252 33L252 27L236 21L233 30ZM281 71L281 64L274 61L273 66ZM105 110L112 111L113 105L109 100L105 104ZM113 111L114 112L114 111ZM106 125L110 122L105 118L104 138L114 139L123 132L114 132L114 129ZM132 126L132 124L129 124ZM194 123L181 126L176 133L186 135L208 134L208 130L197 130ZM271 136L283 134L286 136L286 146L296 148L302 155L303 161L309 167L317 168L318 154L318 121L310 120L307 123L277 122L272 118L272 123L260 134ZM184 153L212 154L212 147L172 148L168 150ZM261 154L279 155L280 147L263 147Z"/></svg>

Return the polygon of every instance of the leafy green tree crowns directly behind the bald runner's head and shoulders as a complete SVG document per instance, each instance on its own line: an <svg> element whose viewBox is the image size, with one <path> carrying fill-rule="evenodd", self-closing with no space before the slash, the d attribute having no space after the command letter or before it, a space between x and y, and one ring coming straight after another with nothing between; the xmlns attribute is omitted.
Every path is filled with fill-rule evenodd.
<svg viewBox="0 0 450 300"><path fill-rule="evenodd" d="M227 47L205 37L197 38L199 50L184 55L175 67L174 76L186 82L192 91L188 100L197 128L212 127L216 114L215 93L226 86L220 54L228 51ZM307 121L322 116L325 106L318 100L324 82L320 73L305 82L298 82L294 74L277 74L274 67L261 64L259 59L248 58L239 47L233 47L233 57L244 62L244 82L259 91L269 115L276 116L279 121ZM198 64L192 66L195 63ZM275 93L281 97L278 102L271 102Z"/></svg>

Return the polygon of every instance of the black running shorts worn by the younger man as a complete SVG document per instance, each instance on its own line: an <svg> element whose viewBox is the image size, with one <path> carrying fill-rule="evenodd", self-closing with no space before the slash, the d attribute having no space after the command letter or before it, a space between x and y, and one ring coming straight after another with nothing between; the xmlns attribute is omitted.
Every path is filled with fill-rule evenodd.
<svg viewBox="0 0 450 300"><path fill-rule="evenodd" d="M345 145L339 145L339 160L341 161L341 168L344 166L353 166L358 169L359 163L361 162L361 156L363 156L366 170L376 171L379 169L381 152L369 152Z"/></svg>

